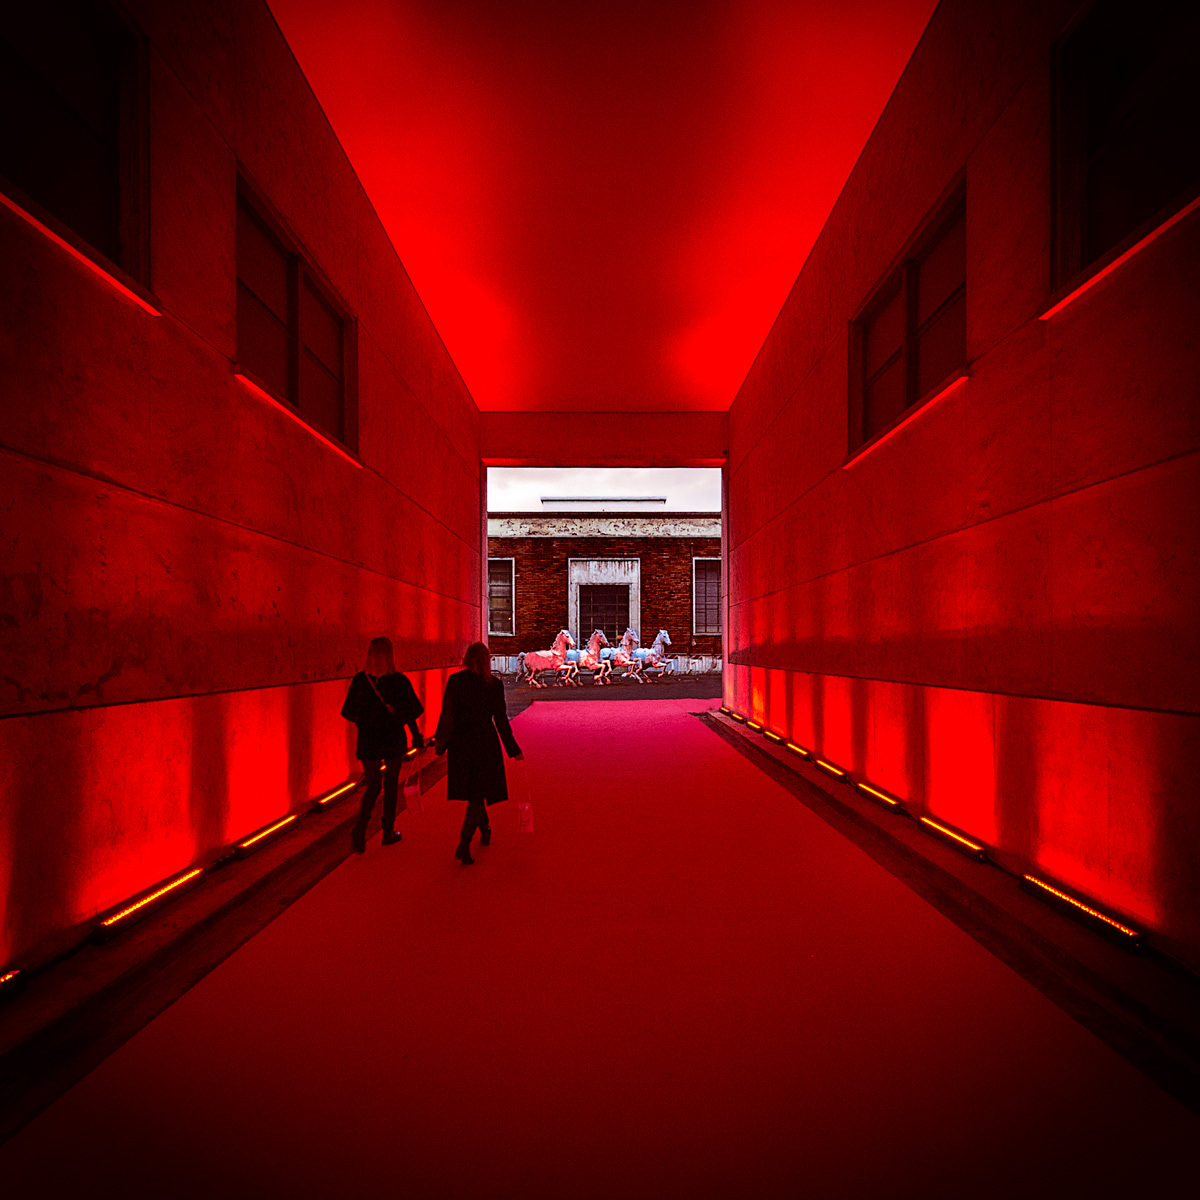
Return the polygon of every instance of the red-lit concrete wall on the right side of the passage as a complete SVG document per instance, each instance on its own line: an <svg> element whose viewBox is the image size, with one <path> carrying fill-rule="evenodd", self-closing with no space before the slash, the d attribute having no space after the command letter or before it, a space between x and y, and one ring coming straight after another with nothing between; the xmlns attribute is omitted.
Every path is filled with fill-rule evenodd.
<svg viewBox="0 0 1200 1200"><path fill-rule="evenodd" d="M1050 49L944 0L730 412L727 701L1200 964L1200 212L1049 320ZM848 322L960 173L966 385L847 469Z"/></svg>

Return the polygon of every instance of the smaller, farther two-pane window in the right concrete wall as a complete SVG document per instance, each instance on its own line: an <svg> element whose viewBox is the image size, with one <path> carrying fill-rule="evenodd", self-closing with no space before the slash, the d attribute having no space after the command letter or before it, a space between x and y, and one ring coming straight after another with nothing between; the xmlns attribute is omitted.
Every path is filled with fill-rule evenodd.
<svg viewBox="0 0 1200 1200"><path fill-rule="evenodd" d="M845 466L966 377L966 203L960 191L853 323L851 457Z"/></svg>

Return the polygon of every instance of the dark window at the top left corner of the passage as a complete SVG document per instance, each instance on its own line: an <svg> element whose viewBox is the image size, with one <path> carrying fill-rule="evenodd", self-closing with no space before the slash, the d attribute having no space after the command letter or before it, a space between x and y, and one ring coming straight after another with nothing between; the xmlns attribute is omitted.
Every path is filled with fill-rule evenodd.
<svg viewBox="0 0 1200 1200"><path fill-rule="evenodd" d="M0 174L143 278L140 46L97 4L8 5L0 22ZM36 210L35 210L36 214Z"/></svg>

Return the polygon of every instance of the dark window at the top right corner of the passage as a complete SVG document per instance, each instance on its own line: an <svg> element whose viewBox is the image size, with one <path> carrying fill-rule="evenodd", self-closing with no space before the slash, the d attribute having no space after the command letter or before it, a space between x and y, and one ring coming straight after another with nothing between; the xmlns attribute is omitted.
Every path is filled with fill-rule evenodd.
<svg viewBox="0 0 1200 1200"><path fill-rule="evenodd" d="M1057 286L1200 188L1200 6L1099 0L1057 50Z"/></svg>

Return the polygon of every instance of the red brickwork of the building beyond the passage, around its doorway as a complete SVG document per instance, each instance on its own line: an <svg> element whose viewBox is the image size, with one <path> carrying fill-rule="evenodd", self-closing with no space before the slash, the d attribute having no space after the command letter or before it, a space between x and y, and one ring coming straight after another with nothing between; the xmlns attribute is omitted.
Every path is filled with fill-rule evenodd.
<svg viewBox="0 0 1200 1200"><path fill-rule="evenodd" d="M642 635L665 629L677 654L721 653L721 638L691 632L691 560L720 558L720 538L488 538L490 558L516 559L516 636L491 635L493 654L545 649L566 628L569 558L637 558Z"/></svg>

